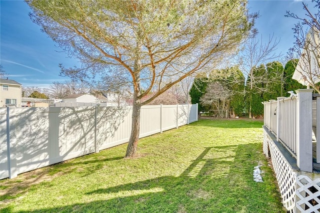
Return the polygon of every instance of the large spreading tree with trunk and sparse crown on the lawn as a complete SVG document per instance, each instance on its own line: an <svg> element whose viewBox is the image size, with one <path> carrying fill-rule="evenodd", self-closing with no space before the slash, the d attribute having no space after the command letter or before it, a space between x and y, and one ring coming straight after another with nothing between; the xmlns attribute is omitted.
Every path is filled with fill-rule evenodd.
<svg viewBox="0 0 320 213"><path fill-rule="evenodd" d="M31 19L82 62L81 68L60 66L62 74L92 84L107 84L97 79L108 78L131 86L126 157L136 152L141 106L233 54L256 16L248 13L246 0L26 2ZM150 92L152 96L144 99Z"/></svg>

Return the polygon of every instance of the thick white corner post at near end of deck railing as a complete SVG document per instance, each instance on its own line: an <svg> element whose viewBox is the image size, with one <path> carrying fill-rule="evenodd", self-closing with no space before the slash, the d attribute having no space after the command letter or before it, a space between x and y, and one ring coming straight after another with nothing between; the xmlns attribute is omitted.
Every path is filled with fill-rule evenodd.
<svg viewBox="0 0 320 213"><path fill-rule="evenodd" d="M312 172L312 92L298 89L296 113L296 165L301 171Z"/></svg>

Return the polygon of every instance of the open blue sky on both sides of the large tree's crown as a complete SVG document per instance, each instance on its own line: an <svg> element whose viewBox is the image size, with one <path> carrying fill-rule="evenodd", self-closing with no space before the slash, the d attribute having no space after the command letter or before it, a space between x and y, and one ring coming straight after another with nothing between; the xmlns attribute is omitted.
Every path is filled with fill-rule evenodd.
<svg viewBox="0 0 320 213"><path fill-rule="evenodd" d="M255 27L267 41L269 35L280 39L277 53L285 54L294 42L293 30L297 20L284 17L290 10L304 15L301 0L250 0L250 11L259 11ZM313 5L310 0L303 1ZM52 81L64 81L59 76L58 64L69 67L79 65L76 59L68 58L56 44L33 23L24 1L0 0L0 64L9 79L23 86L48 87Z"/></svg>

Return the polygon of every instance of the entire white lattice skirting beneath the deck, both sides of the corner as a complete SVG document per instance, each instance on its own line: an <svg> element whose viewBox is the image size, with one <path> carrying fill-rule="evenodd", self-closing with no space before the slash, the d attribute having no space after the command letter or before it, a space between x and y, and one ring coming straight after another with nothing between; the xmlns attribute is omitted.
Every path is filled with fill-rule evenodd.
<svg viewBox="0 0 320 213"><path fill-rule="evenodd" d="M292 169L265 129L263 134L263 153L271 158L285 209L290 213L320 213L319 176L301 175L300 171Z"/></svg>

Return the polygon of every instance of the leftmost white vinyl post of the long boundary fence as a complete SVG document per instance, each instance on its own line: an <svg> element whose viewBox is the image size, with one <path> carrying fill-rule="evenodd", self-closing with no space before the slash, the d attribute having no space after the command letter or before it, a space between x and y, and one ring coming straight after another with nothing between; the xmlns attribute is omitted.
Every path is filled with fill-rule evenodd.
<svg viewBox="0 0 320 213"><path fill-rule="evenodd" d="M9 179L15 178L17 176L16 168L16 139L15 139L15 108L12 113L10 122L10 108L6 108L6 146L7 146L7 161L8 161L8 173Z"/></svg>

